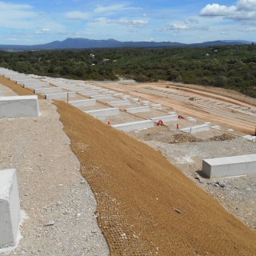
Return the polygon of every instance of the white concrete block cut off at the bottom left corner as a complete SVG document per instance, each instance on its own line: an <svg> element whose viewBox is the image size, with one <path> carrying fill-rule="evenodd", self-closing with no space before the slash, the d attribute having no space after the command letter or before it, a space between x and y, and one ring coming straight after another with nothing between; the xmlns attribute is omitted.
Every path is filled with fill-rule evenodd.
<svg viewBox="0 0 256 256"><path fill-rule="evenodd" d="M19 214L16 170L0 170L0 248L16 245Z"/></svg>

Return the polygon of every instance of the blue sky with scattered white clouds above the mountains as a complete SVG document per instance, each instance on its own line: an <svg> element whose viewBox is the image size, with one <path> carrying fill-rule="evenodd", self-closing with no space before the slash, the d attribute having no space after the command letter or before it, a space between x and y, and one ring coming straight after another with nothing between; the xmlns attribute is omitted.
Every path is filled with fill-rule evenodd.
<svg viewBox="0 0 256 256"><path fill-rule="evenodd" d="M256 0L0 0L0 44L66 38L256 42Z"/></svg>

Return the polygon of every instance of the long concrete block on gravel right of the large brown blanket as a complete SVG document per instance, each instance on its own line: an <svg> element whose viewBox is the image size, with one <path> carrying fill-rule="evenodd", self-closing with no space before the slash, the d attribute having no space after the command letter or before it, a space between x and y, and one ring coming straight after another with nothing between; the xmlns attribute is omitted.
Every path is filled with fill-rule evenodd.
<svg viewBox="0 0 256 256"><path fill-rule="evenodd" d="M202 172L208 178L256 174L256 154L203 159Z"/></svg>

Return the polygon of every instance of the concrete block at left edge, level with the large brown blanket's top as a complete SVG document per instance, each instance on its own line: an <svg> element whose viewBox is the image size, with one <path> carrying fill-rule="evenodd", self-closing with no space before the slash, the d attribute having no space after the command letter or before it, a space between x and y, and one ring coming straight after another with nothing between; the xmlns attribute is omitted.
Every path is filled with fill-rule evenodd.
<svg viewBox="0 0 256 256"><path fill-rule="evenodd" d="M38 96L10 96L0 98L0 119L38 117Z"/></svg>

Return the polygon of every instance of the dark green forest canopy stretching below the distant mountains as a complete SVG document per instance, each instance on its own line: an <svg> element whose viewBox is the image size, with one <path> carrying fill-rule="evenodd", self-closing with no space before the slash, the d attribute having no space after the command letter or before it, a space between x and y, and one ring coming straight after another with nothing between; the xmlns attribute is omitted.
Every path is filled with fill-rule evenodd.
<svg viewBox="0 0 256 256"><path fill-rule="evenodd" d="M0 66L81 80L159 80L218 86L256 98L256 46L0 51Z"/></svg>

